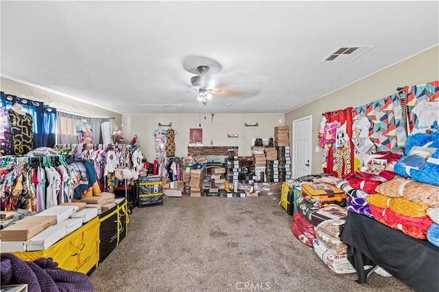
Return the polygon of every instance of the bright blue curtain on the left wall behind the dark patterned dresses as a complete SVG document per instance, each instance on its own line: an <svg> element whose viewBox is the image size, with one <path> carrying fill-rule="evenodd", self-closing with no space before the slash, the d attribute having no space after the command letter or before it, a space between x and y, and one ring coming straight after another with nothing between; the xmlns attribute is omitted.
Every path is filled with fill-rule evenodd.
<svg viewBox="0 0 439 292"><path fill-rule="evenodd" d="M34 149L53 147L56 137L56 109L45 106L41 101L33 101L1 92L1 106L10 108L15 103L21 104L23 110L32 115Z"/></svg>

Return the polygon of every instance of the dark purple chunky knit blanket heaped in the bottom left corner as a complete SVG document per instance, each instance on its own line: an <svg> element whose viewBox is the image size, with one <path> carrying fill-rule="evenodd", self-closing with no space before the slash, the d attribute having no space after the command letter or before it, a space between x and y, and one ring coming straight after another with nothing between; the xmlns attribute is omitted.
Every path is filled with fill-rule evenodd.
<svg viewBox="0 0 439 292"><path fill-rule="evenodd" d="M0 254L2 285L28 284L29 292L88 292L93 283L84 273L60 269L51 258L27 262L14 254Z"/></svg>

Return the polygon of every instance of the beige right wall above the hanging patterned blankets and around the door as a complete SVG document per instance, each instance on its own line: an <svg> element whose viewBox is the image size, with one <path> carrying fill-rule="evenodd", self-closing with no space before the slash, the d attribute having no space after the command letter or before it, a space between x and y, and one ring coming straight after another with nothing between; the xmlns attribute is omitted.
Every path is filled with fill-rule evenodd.
<svg viewBox="0 0 439 292"><path fill-rule="evenodd" d="M319 153L316 153L314 149L318 145L318 127L322 121L323 112L340 110L348 106L361 106L396 93L398 87L420 85L439 80L438 50L438 46L428 49L413 58L394 64L334 93L287 112L285 125L289 125L290 128L296 119L309 115L313 117L311 173L322 172L322 149ZM292 135L290 139L292 139Z"/></svg>

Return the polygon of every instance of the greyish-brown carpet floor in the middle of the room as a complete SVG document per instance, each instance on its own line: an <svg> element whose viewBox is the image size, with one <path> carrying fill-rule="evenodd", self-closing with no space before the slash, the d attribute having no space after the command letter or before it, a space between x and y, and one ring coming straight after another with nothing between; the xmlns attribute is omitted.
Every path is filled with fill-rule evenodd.
<svg viewBox="0 0 439 292"><path fill-rule="evenodd" d="M90 279L95 291L413 291L337 274L294 237L279 196L169 197L134 208L128 235Z"/></svg>

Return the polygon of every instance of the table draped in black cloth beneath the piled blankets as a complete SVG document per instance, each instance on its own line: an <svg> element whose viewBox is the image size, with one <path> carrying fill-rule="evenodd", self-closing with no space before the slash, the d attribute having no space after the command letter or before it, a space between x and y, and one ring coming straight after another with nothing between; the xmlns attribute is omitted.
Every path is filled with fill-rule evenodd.
<svg viewBox="0 0 439 292"><path fill-rule="evenodd" d="M358 283L368 280L379 265L416 291L439 291L439 248L355 212L348 212L341 239L348 245L348 260Z"/></svg>

